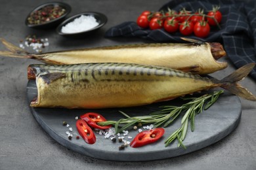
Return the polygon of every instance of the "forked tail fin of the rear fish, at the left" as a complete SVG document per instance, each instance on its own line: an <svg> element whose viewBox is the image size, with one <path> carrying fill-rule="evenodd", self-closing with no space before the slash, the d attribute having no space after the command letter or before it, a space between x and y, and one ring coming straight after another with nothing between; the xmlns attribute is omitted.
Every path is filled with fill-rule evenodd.
<svg viewBox="0 0 256 170"><path fill-rule="evenodd" d="M5 39L0 39L0 41L9 50L9 51L0 51L0 56L12 57L12 58L32 58L32 56L30 56L30 54L26 52L26 50L23 50L22 48L15 46L11 42L7 42Z"/></svg>

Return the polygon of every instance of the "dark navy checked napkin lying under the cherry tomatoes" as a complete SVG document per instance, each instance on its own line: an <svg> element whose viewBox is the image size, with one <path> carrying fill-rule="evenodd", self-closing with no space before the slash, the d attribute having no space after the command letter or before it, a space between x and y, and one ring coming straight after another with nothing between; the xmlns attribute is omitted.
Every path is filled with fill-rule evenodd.
<svg viewBox="0 0 256 170"><path fill-rule="evenodd" d="M211 10L213 5L219 5L223 14L221 29L211 27L211 33L205 39L194 35L188 38L198 39L206 42L221 42L228 58L236 67L242 67L247 63L256 63L256 3L255 1L227 1L227 0L172 0L163 5L160 10L169 9L196 11L203 9ZM167 33L163 29L142 29L136 22L124 22L111 27L106 31L106 37L142 37L156 42L181 42L181 33ZM184 41L182 41L184 42ZM250 73L256 80L256 67Z"/></svg>

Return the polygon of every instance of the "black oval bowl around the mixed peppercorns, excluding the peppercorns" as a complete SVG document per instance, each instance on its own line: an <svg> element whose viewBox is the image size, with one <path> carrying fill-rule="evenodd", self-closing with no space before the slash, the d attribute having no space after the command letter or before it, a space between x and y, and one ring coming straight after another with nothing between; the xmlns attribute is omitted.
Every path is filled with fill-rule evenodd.
<svg viewBox="0 0 256 170"><path fill-rule="evenodd" d="M32 14L32 12L35 12L36 10L40 10L40 9L43 9L44 7L47 7L49 5L53 5L53 6L60 6L62 7L63 9L66 10L66 12L60 16L59 18L55 18L53 20L50 20L49 22L45 22L45 23L42 23L42 24L30 24L28 22L28 18L30 17L30 15ZM32 28L39 28L39 29L45 29L45 28L52 28L52 27L56 27L58 24L60 24L64 19L65 17L70 13L71 11L71 7L70 5L66 4L66 3L61 3L61 2L49 2L49 3L44 3L42 5L39 5L38 7L36 7L35 9L33 9L29 14L28 16L26 17L26 21L25 21L25 24L28 26L28 27L32 27Z"/></svg>

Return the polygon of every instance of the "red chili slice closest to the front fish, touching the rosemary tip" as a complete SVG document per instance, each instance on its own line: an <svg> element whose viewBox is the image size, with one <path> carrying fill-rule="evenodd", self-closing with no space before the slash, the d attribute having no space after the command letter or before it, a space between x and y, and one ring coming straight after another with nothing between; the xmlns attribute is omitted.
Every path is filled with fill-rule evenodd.
<svg viewBox="0 0 256 170"><path fill-rule="evenodd" d="M98 114L96 112L87 112L80 116L81 119L85 120L87 124L91 127L95 127L96 129L108 129L111 127L109 126L99 126L98 122L105 122L106 118L104 118L101 114Z"/></svg>

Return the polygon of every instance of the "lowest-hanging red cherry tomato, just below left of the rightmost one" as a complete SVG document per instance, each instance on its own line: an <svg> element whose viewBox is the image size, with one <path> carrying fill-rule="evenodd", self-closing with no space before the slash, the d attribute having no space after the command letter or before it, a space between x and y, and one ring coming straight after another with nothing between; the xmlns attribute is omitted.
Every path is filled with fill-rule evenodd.
<svg viewBox="0 0 256 170"><path fill-rule="evenodd" d="M197 22L194 25L194 34L196 37L204 38L210 33L210 26L207 22Z"/></svg>

